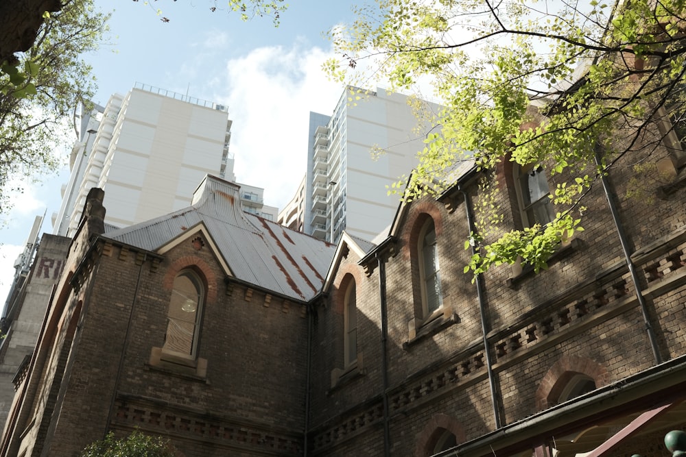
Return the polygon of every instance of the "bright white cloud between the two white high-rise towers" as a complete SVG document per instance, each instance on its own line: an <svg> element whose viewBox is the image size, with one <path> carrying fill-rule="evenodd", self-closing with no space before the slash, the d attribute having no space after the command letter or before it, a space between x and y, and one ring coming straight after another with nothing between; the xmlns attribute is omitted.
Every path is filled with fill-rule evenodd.
<svg viewBox="0 0 686 457"><path fill-rule="evenodd" d="M309 112L331 114L343 87L329 82L318 47L261 47L226 64L214 99L233 119L231 149L239 182L265 188L265 203L283 208L305 175Z"/></svg>

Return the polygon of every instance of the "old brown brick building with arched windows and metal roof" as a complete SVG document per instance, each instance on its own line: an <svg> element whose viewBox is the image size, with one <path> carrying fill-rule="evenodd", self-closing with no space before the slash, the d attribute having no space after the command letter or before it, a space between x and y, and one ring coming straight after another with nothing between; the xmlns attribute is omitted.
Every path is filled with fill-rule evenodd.
<svg viewBox="0 0 686 457"><path fill-rule="evenodd" d="M73 456L138 427L185 456L670 455L662 437L686 425L670 160L660 198L623 197L621 166L594 185L546 271L475 282L475 169L403 203L375 243L335 247L243 214L213 177L190 208L115 232L94 191L1 452ZM501 228L545 221L555 184L501 164Z"/></svg>

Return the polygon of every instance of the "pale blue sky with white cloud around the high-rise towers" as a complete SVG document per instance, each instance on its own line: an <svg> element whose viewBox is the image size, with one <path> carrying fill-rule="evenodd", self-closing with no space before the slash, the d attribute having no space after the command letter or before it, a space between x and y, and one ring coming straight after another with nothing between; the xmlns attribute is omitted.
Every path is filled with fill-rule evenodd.
<svg viewBox="0 0 686 457"><path fill-rule="evenodd" d="M85 56L97 78L94 101L104 106L110 95L140 82L228 106L237 181L264 188L265 203L283 208L305 175L309 112L331 114L344 89L322 73L331 55L323 34L351 22L352 6L362 1L291 0L279 27L270 18L243 22L221 9L224 1L152 3L168 23L144 1L95 0L112 17L106 44ZM60 173L25 182L25 192L3 214L0 306L35 217L45 213L40 233L52 232L73 140L56 151L65 157Z"/></svg>

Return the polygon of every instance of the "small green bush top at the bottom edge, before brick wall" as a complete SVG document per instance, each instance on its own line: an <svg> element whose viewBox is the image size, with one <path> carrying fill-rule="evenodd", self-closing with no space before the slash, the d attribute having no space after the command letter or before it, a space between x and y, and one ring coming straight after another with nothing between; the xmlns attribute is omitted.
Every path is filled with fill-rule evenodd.
<svg viewBox="0 0 686 457"><path fill-rule="evenodd" d="M115 439L113 432L104 440L95 441L83 450L81 457L174 457L176 451L169 440L148 436L134 430L126 438Z"/></svg>

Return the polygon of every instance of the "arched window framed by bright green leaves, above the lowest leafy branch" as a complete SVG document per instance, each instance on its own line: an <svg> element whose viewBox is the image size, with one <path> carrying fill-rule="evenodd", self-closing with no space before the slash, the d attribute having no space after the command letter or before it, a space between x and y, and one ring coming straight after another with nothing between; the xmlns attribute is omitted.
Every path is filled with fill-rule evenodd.
<svg viewBox="0 0 686 457"><path fill-rule="evenodd" d="M550 188L543 166L533 164L514 166L514 183L521 210L522 223L526 227L545 225L555 218L550 200Z"/></svg>

